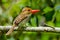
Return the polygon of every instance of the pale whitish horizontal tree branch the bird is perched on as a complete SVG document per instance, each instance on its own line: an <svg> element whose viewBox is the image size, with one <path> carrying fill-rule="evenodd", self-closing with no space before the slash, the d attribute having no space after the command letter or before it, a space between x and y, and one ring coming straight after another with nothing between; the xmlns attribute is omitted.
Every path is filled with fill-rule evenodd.
<svg viewBox="0 0 60 40"><path fill-rule="evenodd" d="M7 30L9 30L10 28L11 28L12 26L0 26L0 31L7 31ZM18 27L15 27L14 28L14 31L18 31L17 30L18 29ZM20 31L21 29L19 29L19 31ZM39 32L39 31L41 31L41 32L44 32L44 31L46 31L46 32L60 32L60 28L58 28L58 27L54 27L54 29L52 28L52 27L42 27L42 26L40 26L40 27L26 27L26 28L24 28L23 29L23 31L32 31L32 32Z"/></svg>

